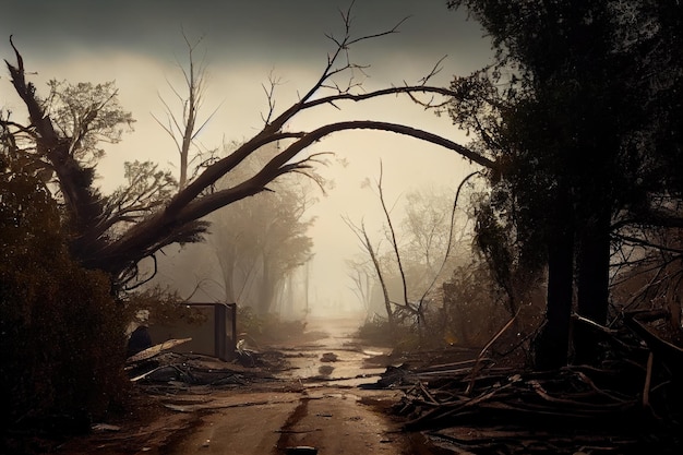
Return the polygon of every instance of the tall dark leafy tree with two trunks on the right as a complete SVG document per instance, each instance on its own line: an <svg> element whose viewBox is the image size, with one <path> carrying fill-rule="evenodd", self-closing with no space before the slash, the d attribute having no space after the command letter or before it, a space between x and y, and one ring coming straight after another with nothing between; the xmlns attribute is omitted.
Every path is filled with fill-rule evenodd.
<svg viewBox="0 0 683 455"><path fill-rule="evenodd" d="M614 242L635 227L648 242L652 228L681 226L671 166L681 159L673 120L681 8L649 0L450 5L467 8L498 51L494 65L454 81L463 96L451 113L500 163L486 203L515 234L515 255L548 264L548 326L539 338L548 355L539 360L561 364L574 274L577 312L606 324ZM582 328L574 331L577 361L595 357L595 338Z"/></svg>

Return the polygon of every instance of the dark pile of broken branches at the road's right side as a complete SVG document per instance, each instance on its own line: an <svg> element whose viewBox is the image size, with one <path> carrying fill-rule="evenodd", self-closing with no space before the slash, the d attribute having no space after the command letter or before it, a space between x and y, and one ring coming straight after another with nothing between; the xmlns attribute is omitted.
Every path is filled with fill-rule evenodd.
<svg viewBox="0 0 683 455"><path fill-rule="evenodd" d="M666 342L637 332L599 367L539 372L477 357L390 367L376 386L403 390L394 411L405 429L450 453L680 453L683 350L664 355L654 344Z"/></svg>

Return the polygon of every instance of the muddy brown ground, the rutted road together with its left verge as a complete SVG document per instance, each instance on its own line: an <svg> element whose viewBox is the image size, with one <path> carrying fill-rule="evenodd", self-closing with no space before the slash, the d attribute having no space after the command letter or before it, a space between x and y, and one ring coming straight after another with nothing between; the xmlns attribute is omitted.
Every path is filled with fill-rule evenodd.
<svg viewBox="0 0 683 455"><path fill-rule="evenodd" d="M237 383L188 385L142 383L137 414L103 422L95 431L59 447L62 455L263 455L420 454L418 434L399 431L388 408L403 395L395 390L364 388L391 360L387 349L362 346L352 338L355 321L335 321L311 331L327 337L269 347L276 371L230 368ZM303 338L302 338L303 339ZM256 356L259 356L256 354ZM216 368L225 368L216 361Z"/></svg>

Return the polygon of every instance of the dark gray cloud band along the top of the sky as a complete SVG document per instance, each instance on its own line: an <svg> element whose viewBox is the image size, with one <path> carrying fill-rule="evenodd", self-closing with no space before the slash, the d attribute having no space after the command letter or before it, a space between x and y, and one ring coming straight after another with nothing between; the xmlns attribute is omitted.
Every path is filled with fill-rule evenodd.
<svg viewBox="0 0 683 455"><path fill-rule="evenodd" d="M329 0L9 0L0 15L0 50L7 56L14 35L23 52L59 59L74 49L127 49L147 55L182 50L181 28L191 38L206 35L212 56L256 59L317 58L329 47L325 33L342 33L338 10L348 1ZM387 29L411 17L402 32L378 41L381 49L406 55L441 49L477 58L488 51L477 24L440 0L358 0L357 33Z"/></svg>

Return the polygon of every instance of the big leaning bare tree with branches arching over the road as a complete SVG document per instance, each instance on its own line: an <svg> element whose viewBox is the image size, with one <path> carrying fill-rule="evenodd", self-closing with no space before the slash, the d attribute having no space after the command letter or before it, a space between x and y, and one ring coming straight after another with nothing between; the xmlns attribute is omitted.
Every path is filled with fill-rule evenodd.
<svg viewBox="0 0 683 455"><path fill-rule="evenodd" d="M116 288L134 284L141 260L154 256L155 252L171 243L199 241L207 229L207 223L202 219L204 216L236 201L266 191L268 183L279 176L289 172L309 172L314 159L302 156L302 152L311 144L336 132L349 130L393 132L441 145L482 166L494 166L487 157L453 141L405 124L357 120L322 124L309 131L286 131L284 127L297 115L323 106L338 107L343 103L362 103L400 94L444 97L453 95L447 88L427 85L433 73L428 74L419 85L387 87L367 93L360 92L352 84L345 88L335 81L335 77L357 68L348 60L349 47L390 35L396 27L355 38L350 34L349 15L346 14L344 17L344 36L332 37L335 50L328 56L317 82L297 103L278 113L271 93L263 129L229 156L207 166L184 188L166 200L159 199L158 194L153 192L148 193L146 199L137 193L128 192L117 204L111 204L110 199L99 194L93 185L94 169L80 159L79 144L83 143L83 140L75 136L81 134L84 137L92 137L99 133L96 121L101 108L98 109L96 106L88 112L82 112L77 117L80 125L77 131L70 132L57 128L45 100L39 97L34 84L26 80L24 59L13 45L16 63L7 62L7 64L12 84L26 106L29 124L20 124L8 118L2 119L2 124L9 128L14 136L22 136L26 154L37 157L46 169L53 172L55 183L59 188L68 218L69 247L74 258L87 268L108 273ZM109 100L115 99L116 96L112 96ZM101 107L104 106L107 106L106 100ZM229 188L211 191L226 172L248 156L267 144L286 141L288 145L254 175Z"/></svg>

